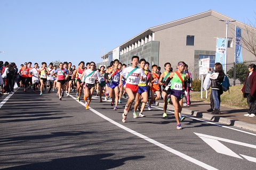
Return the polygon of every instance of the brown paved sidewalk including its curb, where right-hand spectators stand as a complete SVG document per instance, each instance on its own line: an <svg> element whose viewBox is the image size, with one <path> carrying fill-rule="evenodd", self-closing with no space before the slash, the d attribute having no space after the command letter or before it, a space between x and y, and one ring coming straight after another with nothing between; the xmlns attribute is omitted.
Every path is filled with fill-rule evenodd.
<svg viewBox="0 0 256 170"><path fill-rule="evenodd" d="M156 104L163 107L163 100L157 100ZM243 128L256 132L256 116L246 117L244 114L247 113L248 109L235 109L225 106L220 106L221 114L213 115L211 112L206 110L210 108L209 103L204 101L191 101L191 106L183 106L182 114L191 115L195 117L202 117L206 120L220 122L227 125L233 125L237 128ZM171 104L167 105L167 109L173 111L174 107Z"/></svg>

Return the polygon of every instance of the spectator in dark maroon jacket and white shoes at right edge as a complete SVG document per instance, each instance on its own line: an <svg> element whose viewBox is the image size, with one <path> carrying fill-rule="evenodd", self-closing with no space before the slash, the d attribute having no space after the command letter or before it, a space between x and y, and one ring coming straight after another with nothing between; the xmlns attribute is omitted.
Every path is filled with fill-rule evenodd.
<svg viewBox="0 0 256 170"><path fill-rule="evenodd" d="M254 117L256 114L256 65L250 64L248 69L249 73L246 75L242 92L247 98L249 111L244 116Z"/></svg>

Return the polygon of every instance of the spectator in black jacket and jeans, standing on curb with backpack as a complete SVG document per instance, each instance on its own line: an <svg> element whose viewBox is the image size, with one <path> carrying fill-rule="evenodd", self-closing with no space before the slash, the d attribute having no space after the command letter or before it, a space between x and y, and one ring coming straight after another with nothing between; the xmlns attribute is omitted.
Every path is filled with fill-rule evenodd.
<svg viewBox="0 0 256 170"><path fill-rule="evenodd" d="M225 77L221 63L214 64L214 72L210 75L214 111L212 114L220 114L220 95L223 94L221 83ZM208 69L210 73L210 68Z"/></svg>

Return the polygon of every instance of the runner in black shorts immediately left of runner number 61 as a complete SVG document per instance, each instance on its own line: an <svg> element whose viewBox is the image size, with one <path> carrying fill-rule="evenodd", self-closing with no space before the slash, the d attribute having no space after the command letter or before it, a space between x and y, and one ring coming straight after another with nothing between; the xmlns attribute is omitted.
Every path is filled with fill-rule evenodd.
<svg viewBox="0 0 256 170"><path fill-rule="evenodd" d="M171 87L171 81L170 81L170 78L169 78L169 75L170 75L170 70L171 70L171 63L165 63L164 64L164 69L165 69L165 72L161 74L160 78L159 78L159 82L158 84L162 86L162 95L163 95L163 99L164 99L164 106L163 106L163 109L164 109L164 113L163 113L163 117L167 117L167 114L166 114L166 109L167 109L167 96L170 94L170 87Z"/></svg>

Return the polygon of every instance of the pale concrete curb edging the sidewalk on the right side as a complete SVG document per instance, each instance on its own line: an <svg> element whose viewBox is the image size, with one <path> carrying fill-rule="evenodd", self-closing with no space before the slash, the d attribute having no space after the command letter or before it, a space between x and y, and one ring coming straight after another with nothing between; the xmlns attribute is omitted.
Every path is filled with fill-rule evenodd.
<svg viewBox="0 0 256 170"><path fill-rule="evenodd" d="M157 101L156 101L156 105L161 106L161 107L164 106L163 103L157 102ZM167 105L167 109L169 109L171 111L174 111L174 107L171 104ZM231 120L230 118L215 116L215 115L212 115L210 113L197 112L197 111L193 111L193 110L188 109L188 108L182 108L182 114L190 115L190 116L194 116L194 117L199 117L199 118L204 118L205 120L209 120L209 121L213 121L213 122L219 122L219 123L227 124L227 125L230 125L230 126L235 126L237 128L243 128L243 129L246 129L246 130L256 132L256 124L252 124L252 123L246 123L246 122L242 122L242 121Z"/></svg>

